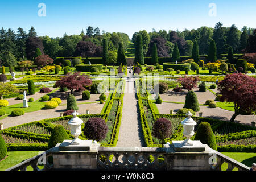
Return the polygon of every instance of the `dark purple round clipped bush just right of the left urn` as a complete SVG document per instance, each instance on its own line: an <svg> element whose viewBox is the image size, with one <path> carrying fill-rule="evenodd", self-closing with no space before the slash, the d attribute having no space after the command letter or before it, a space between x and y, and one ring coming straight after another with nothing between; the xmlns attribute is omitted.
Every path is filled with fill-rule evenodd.
<svg viewBox="0 0 256 182"><path fill-rule="evenodd" d="M102 118L90 118L84 126L84 135L88 139L100 142L106 137L108 126Z"/></svg>

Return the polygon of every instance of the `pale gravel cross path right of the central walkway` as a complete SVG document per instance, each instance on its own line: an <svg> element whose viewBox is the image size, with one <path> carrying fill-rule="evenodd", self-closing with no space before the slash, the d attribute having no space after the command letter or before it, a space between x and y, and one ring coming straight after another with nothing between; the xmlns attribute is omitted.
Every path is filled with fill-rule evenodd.
<svg viewBox="0 0 256 182"><path fill-rule="evenodd" d="M167 103L163 102L162 104L156 104L160 114L170 114L170 110L174 110L174 114L177 113L179 109L182 109L184 104L174 104L174 103ZM213 118L213 119L221 119L224 121L229 121L232 115L234 114L233 111L228 111L217 108L209 108L208 106L199 106L200 111L203 112L203 117ZM199 116L199 112L196 113L196 116ZM235 119L235 122L244 123L246 125L251 125L251 122L256 122L255 115L238 115Z"/></svg>

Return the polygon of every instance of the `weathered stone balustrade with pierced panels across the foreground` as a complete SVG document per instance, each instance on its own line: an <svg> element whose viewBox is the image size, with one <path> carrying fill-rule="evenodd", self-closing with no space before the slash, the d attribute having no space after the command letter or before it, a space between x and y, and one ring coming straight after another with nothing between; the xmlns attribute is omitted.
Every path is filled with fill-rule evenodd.
<svg viewBox="0 0 256 182"><path fill-rule="evenodd" d="M207 145L204 151L198 146L191 151L177 151L174 145L165 144L162 148L156 147L100 147L92 143L88 146L67 146L67 140L62 144L39 154L33 158L17 164L7 171L26 171L28 166L36 171L40 170L221 170L224 163L228 170L235 167L238 170L250 168L236 160L214 151ZM70 141L71 142L71 141ZM199 142L199 141L197 141ZM64 144L66 143L66 144ZM198 150L197 150L198 149ZM43 156L44 155L44 156ZM46 163L39 166L39 160L45 158ZM48 162L51 157L53 164ZM214 160L217 162L214 164Z"/></svg>

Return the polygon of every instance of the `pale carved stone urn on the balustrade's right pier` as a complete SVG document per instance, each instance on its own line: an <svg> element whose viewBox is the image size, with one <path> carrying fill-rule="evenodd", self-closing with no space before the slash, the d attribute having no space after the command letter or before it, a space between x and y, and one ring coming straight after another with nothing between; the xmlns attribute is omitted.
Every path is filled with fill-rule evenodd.
<svg viewBox="0 0 256 182"><path fill-rule="evenodd" d="M185 118L183 121L181 121L181 124L183 125L183 135L187 138L184 140L183 144L184 146L193 146L193 143L191 141L191 137L195 134L194 127L196 125L196 122L191 118L192 113L188 111L186 114L187 118Z"/></svg>

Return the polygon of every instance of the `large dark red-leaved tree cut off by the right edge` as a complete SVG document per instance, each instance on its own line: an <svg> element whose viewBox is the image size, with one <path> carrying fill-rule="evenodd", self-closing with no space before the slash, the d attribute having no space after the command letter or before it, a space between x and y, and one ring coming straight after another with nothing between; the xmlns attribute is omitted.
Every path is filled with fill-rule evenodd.
<svg viewBox="0 0 256 182"><path fill-rule="evenodd" d="M243 73L226 75L218 84L218 94L221 102L234 102L234 111L230 122L234 122L237 115L252 114L256 110L256 79Z"/></svg>

